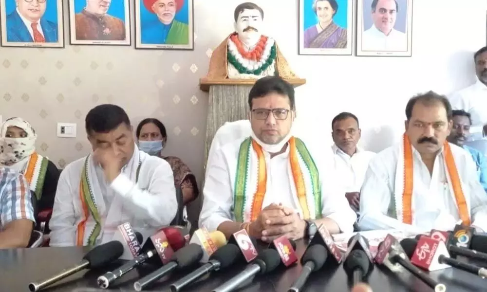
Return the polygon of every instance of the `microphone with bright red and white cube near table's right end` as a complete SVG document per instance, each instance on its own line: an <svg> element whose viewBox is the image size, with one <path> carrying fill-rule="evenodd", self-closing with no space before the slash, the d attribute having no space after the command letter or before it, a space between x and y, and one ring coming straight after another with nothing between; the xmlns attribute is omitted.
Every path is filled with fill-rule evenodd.
<svg viewBox="0 0 487 292"><path fill-rule="evenodd" d="M405 238L401 240L401 246L415 266L427 271L453 267L471 274L477 274L482 278L487 277L487 269L450 258L443 241L425 236L421 237L419 241L413 238Z"/></svg>

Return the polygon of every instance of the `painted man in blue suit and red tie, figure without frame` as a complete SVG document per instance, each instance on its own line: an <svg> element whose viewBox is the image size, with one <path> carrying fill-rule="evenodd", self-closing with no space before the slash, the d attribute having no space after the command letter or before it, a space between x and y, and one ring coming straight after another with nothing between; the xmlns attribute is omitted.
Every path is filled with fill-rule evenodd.
<svg viewBox="0 0 487 292"><path fill-rule="evenodd" d="M16 0L17 8L6 17L7 41L57 42L57 24L42 18L47 0Z"/></svg>

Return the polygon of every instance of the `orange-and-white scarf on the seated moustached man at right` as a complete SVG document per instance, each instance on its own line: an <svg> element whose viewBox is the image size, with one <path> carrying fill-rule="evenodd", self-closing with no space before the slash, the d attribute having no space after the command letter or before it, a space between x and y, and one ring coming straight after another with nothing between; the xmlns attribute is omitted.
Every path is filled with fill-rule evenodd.
<svg viewBox="0 0 487 292"><path fill-rule="evenodd" d="M469 226L470 217L468 215L468 206L448 142L445 142L443 145L443 159L448 185L450 191L454 194L458 215L462 223ZM390 206L389 216L395 217L403 223L412 224L413 157L412 145L406 134L403 135L403 143L401 143L399 148L396 167L394 201Z"/></svg>

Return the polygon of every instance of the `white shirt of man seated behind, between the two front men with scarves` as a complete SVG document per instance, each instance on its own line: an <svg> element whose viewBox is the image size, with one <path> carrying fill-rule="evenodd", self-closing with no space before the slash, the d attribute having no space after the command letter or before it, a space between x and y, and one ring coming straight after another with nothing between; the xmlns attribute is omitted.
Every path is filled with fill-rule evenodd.
<svg viewBox="0 0 487 292"><path fill-rule="evenodd" d="M354 155L349 156L336 144L332 146L335 157L335 169L340 181L343 183L345 192L360 192L364 182L365 172L369 167L369 161L375 153L366 151L357 146Z"/></svg>

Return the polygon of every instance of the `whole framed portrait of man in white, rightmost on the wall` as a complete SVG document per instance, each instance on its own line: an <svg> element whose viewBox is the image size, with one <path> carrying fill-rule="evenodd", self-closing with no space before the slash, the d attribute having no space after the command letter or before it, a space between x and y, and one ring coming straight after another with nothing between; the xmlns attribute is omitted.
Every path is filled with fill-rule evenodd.
<svg viewBox="0 0 487 292"><path fill-rule="evenodd" d="M413 0L358 0L357 56L411 56Z"/></svg>

